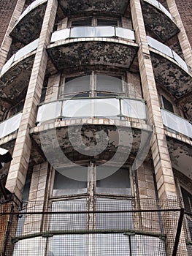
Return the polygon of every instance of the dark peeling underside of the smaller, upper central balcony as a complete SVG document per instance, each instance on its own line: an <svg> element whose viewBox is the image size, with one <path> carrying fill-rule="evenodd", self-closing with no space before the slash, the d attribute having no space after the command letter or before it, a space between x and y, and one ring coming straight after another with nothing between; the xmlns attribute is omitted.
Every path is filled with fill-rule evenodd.
<svg viewBox="0 0 192 256"><path fill-rule="evenodd" d="M70 40L69 40L70 41ZM50 58L58 70L76 66L107 65L115 67L131 66L137 54L137 45L115 42L91 41L51 45L47 48Z"/></svg>

